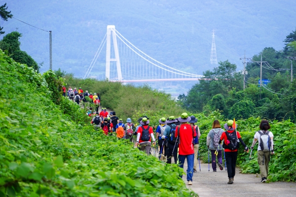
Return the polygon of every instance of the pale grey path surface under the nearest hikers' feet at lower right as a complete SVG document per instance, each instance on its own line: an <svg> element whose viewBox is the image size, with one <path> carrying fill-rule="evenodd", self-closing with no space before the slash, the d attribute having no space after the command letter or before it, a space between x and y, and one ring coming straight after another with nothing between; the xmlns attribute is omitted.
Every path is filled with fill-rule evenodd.
<svg viewBox="0 0 296 197"><path fill-rule="evenodd" d="M184 171L186 169L187 166ZM201 171L193 174L192 186L187 185L186 175L183 180L199 197L296 197L296 183L260 183L261 178L256 174L241 174L238 168L232 185L227 185L227 171L218 167L217 172L213 172L211 164L210 171L208 164L201 164Z"/></svg>

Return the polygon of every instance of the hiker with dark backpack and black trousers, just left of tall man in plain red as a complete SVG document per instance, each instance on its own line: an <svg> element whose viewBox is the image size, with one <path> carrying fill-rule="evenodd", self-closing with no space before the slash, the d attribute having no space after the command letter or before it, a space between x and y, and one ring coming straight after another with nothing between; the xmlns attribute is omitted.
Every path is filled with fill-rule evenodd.
<svg viewBox="0 0 296 197"><path fill-rule="evenodd" d="M161 136L162 139L167 137L167 164L172 164L172 156L174 156L175 164L177 164L177 154L178 154L178 146L179 140L175 137L176 127L175 124L177 120L175 120L174 116L170 116L166 121L167 127L165 128L163 135Z"/></svg>

